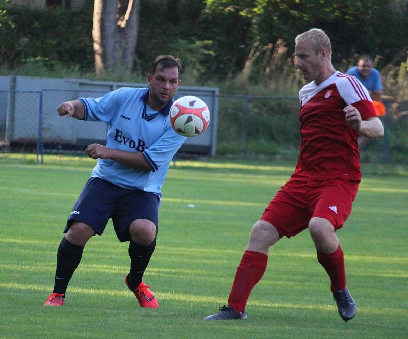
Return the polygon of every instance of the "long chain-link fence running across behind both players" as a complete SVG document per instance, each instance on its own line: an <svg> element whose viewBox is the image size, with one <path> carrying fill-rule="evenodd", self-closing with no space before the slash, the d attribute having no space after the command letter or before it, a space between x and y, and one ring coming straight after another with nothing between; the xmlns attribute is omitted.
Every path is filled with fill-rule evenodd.
<svg viewBox="0 0 408 339"><path fill-rule="evenodd" d="M105 123L66 119L57 114L61 102L105 93L84 89L0 91L0 151L35 153L37 161L43 162L44 154L83 154L90 143L105 144ZM217 155L296 159L300 144L298 98L217 94L203 100L217 102L214 109L218 114L212 117L218 119L211 121L216 126L213 132L218 131ZM389 110L395 102L385 104ZM387 114L381 119L384 138L373 140L367 151L362 150L362 160L406 163L407 115ZM199 140L196 144L185 151L202 154Z"/></svg>

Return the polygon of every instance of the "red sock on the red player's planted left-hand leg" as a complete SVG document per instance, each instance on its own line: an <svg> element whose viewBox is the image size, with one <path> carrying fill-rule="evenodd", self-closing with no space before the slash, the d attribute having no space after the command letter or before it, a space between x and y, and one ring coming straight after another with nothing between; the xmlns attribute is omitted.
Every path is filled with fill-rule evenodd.
<svg viewBox="0 0 408 339"><path fill-rule="evenodd" d="M266 254L253 251L244 252L228 298L228 305L237 312L242 312L245 309L249 294L262 278L267 262L268 256Z"/></svg>

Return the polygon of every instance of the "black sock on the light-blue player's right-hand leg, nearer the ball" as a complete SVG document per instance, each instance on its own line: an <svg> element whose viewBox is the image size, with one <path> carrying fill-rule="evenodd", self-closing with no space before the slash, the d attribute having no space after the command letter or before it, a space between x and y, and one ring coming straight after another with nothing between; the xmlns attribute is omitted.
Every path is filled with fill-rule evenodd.
<svg viewBox="0 0 408 339"><path fill-rule="evenodd" d="M155 251L156 239L147 246L142 246L133 240L129 243L129 257L131 258L131 270L127 275L127 284L129 288L134 290L140 285L143 278L143 273L149 264L151 255Z"/></svg>

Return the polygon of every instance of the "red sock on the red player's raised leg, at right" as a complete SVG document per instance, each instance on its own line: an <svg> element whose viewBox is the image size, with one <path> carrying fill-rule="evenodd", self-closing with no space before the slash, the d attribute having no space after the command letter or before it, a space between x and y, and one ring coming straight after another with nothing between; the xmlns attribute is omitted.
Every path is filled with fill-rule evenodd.
<svg viewBox="0 0 408 339"><path fill-rule="evenodd" d="M331 254L317 252L317 260L324 267L331 280L331 292L344 290L346 287L346 272L344 270L344 255L341 247Z"/></svg>

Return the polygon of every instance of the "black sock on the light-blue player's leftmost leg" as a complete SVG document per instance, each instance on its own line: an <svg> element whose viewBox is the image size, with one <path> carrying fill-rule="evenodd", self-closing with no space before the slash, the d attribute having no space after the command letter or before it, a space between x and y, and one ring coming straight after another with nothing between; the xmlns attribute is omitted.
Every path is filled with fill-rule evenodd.
<svg viewBox="0 0 408 339"><path fill-rule="evenodd" d="M70 243L62 238L57 252L57 269L55 271L54 293L65 294L69 280L81 261L84 246Z"/></svg>

